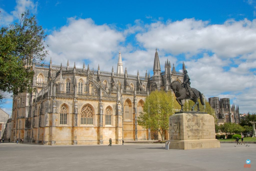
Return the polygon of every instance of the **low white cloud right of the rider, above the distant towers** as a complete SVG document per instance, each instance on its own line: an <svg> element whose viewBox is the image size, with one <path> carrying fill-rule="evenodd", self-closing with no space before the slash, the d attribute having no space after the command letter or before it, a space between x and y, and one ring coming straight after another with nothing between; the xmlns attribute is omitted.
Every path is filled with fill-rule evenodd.
<svg viewBox="0 0 256 171"><path fill-rule="evenodd" d="M255 67L255 63L242 62L237 68L224 71L222 67L228 66L229 61L223 61L217 55L205 55L185 64L191 87L204 93L207 98L230 98L239 106L241 113L255 110L256 76L246 69Z"/></svg>

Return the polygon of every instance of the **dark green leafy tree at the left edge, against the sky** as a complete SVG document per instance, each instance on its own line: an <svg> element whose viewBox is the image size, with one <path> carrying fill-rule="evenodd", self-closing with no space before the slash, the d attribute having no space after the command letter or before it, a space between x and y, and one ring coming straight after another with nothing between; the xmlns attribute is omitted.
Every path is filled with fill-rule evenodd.
<svg viewBox="0 0 256 171"><path fill-rule="evenodd" d="M0 92L13 94L28 89L33 79L33 62L45 59L46 35L36 17L29 11L20 16L19 23L0 30ZM0 99L3 99L3 93Z"/></svg>

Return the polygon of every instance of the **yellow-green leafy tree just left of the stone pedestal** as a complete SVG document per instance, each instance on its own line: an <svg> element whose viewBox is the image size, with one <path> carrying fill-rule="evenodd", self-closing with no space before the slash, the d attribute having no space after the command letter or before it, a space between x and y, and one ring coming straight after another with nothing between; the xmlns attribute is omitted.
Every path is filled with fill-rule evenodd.
<svg viewBox="0 0 256 171"><path fill-rule="evenodd" d="M169 128L169 116L177 110L180 110L180 105L171 91L153 91L146 97L138 124L144 129L158 131L164 141L165 131Z"/></svg>

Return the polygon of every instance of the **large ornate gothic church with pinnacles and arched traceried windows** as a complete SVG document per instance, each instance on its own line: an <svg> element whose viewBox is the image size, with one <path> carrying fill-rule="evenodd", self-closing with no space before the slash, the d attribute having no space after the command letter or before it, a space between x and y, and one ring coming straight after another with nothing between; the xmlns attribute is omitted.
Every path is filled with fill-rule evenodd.
<svg viewBox="0 0 256 171"><path fill-rule="evenodd" d="M145 99L153 90L169 91L170 83L183 82L184 76L174 65L171 70L168 60L161 72L157 50L153 76L147 71L145 76L129 75L126 68L124 72L121 52L117 72L51 61L34 64L33 69L36 92L14 96L10 137L46 145L153 139L152 131L137 124Z"/></svg>

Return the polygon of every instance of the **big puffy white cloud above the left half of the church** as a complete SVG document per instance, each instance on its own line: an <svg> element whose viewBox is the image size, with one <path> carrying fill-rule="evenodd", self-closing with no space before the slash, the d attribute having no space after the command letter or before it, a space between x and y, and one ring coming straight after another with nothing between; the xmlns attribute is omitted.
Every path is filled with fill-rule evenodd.
<svg viewBox="0 0 256 171"><path fill-rule="evenodd" d="M118 54L119 43L124 41L122 33L108 25L96 25L92 19L69 18L68 24L47 36L46 43L53 63L83 63L90 60L90 68L104 67L105 61L112 61L113 54ZM118 55L116 55L118 59ZM114 61L117 63L117 60ZM76 65L77 66L77 65ZM81 67L81 66L80 66ZM112 69L112 67L111 67Z"/></svg>

